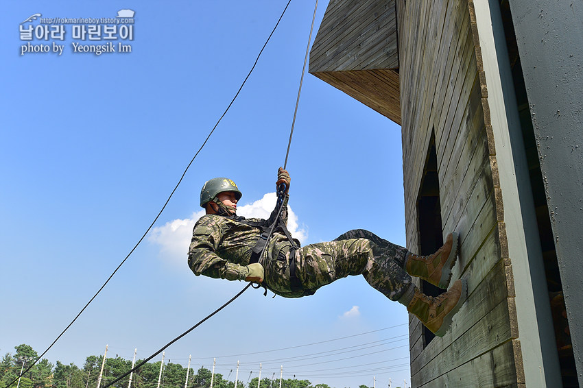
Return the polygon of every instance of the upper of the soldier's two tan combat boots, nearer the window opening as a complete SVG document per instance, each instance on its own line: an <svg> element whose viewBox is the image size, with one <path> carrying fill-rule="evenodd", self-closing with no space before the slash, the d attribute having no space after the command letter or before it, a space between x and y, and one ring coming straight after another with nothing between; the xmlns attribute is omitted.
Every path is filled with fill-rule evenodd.
<svg viewBox="0 0 583 388"><path fill-rule="evenodd" d="M448 234L442 247L429 256L409 253L405 270L411 276L427 280L440 289L447 289L451 279L451 268L457 258L457 233Z"/></svg>

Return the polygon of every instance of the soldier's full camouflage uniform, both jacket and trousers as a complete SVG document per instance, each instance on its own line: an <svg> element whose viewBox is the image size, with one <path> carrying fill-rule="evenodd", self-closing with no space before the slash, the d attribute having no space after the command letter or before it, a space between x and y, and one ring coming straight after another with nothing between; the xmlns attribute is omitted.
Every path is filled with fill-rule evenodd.
<svg viewBox="0 0 583 388"><path fill-rule="evenodd" d="M287 197L283 206L282 219L287 222ZM275 217L276 210L270 220ZM242 223L242 218L204 215L197 221L189 249L189 267L196 276L245 278L251 249L261 230ZM407 250L366 230L351 230L335 241L298 248L295 260L300 289L292 287L290 280L290 248L292 243L285 235L274 232L260 260L265 269L265 287L285 298L311 295L325 284L348 275L362 274L390 300L401 298L411 284L411 277L403 270Z"/></svg>

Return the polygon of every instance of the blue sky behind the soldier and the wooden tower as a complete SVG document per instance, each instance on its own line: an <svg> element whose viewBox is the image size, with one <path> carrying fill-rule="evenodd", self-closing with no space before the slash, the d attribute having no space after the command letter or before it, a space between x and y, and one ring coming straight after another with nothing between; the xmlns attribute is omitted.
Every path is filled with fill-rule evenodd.
<svg viewBox="0 0 583 388"><path fill-rule="evenodd" d="M3 5L0 294L10 318L0 319L1 353L20 343L45 350L128 254L235 95L285 3ZM313 37L326 5L320 2ZM32 14L101 18L121 9L136 12L134 40L124 42L131 53L75 53L71 43L78 40L68 25L64 41L56 41L62 55L21 55L19 25ZM154 232L47 353L49 361L82 365L106 344L114 356L130 359L138 348L143 358L245 286L193 276L182 247L209 178L237 182L250 214L271 206L264 195L274 192L285 160L312 13L313 3L292 1ZM313 75L305 76L287 169L302 243L366 228L405 245L401 128ZM243 382L250 371L257 376L259 362L262 376L278 375L283 364L284 378L337 388L372 386L373 376L377 387L389 378L393 387L409 382L408 341L398 337L407 334L405 308L364 278L339 280L309 298L271 297L247 291L168 348L166 359L186 366L192 354L197 368L217 357L224 376L239 359L246 363ZM365 332L371 333L264 352ZM320 355L317 365L307 359L361 343L377 346ZM348 356L354 357L340 360ZM280 359L287 360L274 361Z"/></svg>

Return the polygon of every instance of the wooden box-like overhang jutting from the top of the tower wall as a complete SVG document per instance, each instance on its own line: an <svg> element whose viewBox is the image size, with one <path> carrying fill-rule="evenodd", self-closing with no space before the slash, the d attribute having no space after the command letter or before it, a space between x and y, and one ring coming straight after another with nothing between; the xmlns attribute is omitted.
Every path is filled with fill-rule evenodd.
<svg viewBox="0 0 583 388"><path fill-rule="evenodd" d="M331 0L309 72L401 124L396 0Z"/></svg>

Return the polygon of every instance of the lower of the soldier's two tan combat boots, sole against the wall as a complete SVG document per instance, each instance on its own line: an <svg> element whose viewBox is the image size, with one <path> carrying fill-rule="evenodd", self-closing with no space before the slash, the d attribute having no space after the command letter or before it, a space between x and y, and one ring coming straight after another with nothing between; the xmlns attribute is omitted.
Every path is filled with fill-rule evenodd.
<svg viewBox="0 0 583 388"><path fill-rule="evenodd" d="M435 298L421 293L415 287L415 294L407 311L418 317L421 322L438 337L443 337L451 326L451 318L466 300L467 283L456 280L451 288Z"/></svg>

